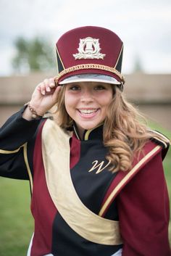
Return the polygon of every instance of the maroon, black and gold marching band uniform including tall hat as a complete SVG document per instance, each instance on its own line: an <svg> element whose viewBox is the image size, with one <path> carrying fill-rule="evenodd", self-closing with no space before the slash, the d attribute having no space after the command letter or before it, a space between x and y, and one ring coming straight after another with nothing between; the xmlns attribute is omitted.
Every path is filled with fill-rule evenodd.
<svg viewBox="0 0 171 256"><path fill-rule="evenodd" d="M65 45L69 39L71 49ZM108 47L116 44L114 59L108 56L107 41ZM71 54L73 59L67 58ZM122 89L122 42L109 30L85 27L64 34L57 60L58 83L71 73L96 69L110 73ZM131 170L112 173L103 124L80 139L75 124L67 131L51 118L28 121L22 118L24 109L1 128L0 175L30 181L35 231L28 256L169 256L169 199L162 168L169 140L157 139L154 132L141 154L135 154Z"/></svg>

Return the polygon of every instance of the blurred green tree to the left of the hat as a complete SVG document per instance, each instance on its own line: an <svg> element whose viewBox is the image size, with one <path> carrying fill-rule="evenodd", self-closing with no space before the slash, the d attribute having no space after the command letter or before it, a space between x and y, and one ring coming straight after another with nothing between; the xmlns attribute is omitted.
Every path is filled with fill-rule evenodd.
<svg viewBox="0 0 171 256"><path fill-rule="evenodd" d="M52 70L56 65L54 46L46 38L28 40L19 37L14 41L14 47L16 53L12 58L12 67L16 73Z"/></svg>

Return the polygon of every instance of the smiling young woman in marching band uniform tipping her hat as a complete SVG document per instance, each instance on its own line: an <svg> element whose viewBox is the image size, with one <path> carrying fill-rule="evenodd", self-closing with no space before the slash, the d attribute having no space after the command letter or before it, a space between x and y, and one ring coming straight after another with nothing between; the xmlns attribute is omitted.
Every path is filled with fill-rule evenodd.
<svg viewBox="0 0 171 256"><path fill-rule="evenodd" d="M70 30L57 63L0 133L1 176L30 180L28 255L169 256L170 141L122 95L122 41L105 28Z"/></svg>

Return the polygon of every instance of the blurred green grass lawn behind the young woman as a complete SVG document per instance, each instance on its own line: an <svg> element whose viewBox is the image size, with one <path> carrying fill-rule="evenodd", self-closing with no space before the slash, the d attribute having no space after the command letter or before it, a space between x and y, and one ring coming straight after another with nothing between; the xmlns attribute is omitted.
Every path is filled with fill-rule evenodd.
<svg viewBox="0 0 171 256"><path fill-rule="evenodd" d="M150 123L151 128L171 138L171 131ZM164 160L164 173L171 199L171 148ZM0 178L0 256L23 256L33 233L28 181ZM170 220L171 244L171 220Z"/></svg>

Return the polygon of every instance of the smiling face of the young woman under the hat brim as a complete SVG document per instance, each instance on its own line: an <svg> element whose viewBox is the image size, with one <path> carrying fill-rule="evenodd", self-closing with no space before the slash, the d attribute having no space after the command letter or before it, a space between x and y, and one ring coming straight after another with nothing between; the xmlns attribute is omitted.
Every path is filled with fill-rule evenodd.
<svg viewBox="0 0 171 256"><path fill-rule="evenodd" d="M112 98L112 86L107 83L81 82L66 85L65 108L78 126L80 136L84 130L95 128L104 121Z"/></svg>

